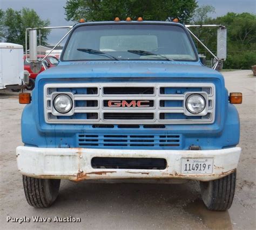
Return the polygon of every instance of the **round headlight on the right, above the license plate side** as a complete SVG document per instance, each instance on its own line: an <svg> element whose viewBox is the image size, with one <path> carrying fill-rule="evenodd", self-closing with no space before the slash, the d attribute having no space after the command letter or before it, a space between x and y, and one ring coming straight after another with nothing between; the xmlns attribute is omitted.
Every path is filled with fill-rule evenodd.
<svg viewBox="0 0 256 230"><path fill-rule="evenodd" d="M200 94L191 94L187 97L186 108L192 114L199 114L205 109L206 103Z"/></svg>

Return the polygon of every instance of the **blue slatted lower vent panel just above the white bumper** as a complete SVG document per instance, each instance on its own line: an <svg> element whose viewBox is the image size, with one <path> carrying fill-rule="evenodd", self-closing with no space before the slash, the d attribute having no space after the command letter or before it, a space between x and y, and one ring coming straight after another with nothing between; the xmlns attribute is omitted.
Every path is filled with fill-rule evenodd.
<svg viewBox="0 0 256 230"><path fill-rule="evenodd" d="M180 147L180 135L78 134L79 147Z"/></svg>

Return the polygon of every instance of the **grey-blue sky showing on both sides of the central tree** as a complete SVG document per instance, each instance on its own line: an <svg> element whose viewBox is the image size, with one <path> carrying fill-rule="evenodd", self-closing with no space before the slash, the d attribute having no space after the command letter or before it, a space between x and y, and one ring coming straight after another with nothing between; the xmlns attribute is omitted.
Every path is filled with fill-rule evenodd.
<svg viewBox="0 0 256 230"><path fill-rule="evenodd" d="M156 0L157 1L157 0ZM256 13L256 0L198 0L198 5L212 5L215 13L212 18L225 15L227 12ZM0 9L12 8L21 10L23 7L34 9L42 19L49 19L51 26L73 25L65 20L66 0L0 0ZM52 30L48 43L56 44L66 33L66 30Z"/></svg>

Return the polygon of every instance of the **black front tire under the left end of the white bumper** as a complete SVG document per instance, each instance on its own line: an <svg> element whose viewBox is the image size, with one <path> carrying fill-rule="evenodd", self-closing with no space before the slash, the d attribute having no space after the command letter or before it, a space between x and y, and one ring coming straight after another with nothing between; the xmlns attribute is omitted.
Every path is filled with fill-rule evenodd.
<svg viewBox="0 0 256 230"><path fill-rule="evenodd" d="M26 201L33 207L50 207L59 193L60 179L37 179L23 176Z"/></svg>

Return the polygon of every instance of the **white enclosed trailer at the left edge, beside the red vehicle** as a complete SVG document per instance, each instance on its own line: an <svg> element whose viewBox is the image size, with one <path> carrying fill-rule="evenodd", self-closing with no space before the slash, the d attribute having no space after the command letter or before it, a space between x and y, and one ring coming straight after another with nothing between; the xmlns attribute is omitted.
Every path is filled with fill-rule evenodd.
<svg viewBox="0 0 256 230"><path fill-rule="evenodd" d="M0 43L0 89L17 89L24 78L23 46Z"/></svg>

